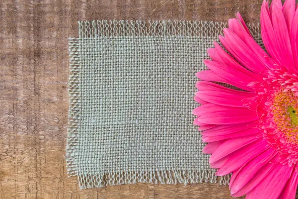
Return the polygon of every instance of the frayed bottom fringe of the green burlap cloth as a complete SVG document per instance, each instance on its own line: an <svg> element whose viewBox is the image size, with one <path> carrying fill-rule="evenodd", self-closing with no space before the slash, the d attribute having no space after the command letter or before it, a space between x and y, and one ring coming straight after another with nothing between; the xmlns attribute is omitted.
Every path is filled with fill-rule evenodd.
<svg viewBox="0 0 298 199"><path fill-rule="evenodd" d="M152 171L152 172L113 172L78 175L80 189L101 188L107 185L126 185L136 183L176 185L191 183L217 183L228 185L230 175L217 177L215 170Z"/></svg>

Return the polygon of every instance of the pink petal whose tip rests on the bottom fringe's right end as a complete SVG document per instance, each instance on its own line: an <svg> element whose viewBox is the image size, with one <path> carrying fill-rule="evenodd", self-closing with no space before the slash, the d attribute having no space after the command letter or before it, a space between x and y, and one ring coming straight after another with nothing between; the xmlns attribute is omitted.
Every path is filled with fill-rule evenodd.
<svg viewBox="0 0 298 199"><path fill-rule="evenodd" d="M231 153L228 155L229 159L217 171L216 175L224 176L240 168L242 165L246 165L251 159L263 153L268 148L266 143L267 141L261 138Z"/></svg>

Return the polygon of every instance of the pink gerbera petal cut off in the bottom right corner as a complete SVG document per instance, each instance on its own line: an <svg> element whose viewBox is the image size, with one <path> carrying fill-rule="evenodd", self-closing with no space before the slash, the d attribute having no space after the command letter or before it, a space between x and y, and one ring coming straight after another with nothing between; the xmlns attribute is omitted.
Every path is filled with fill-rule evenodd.
<svg viewBox="0 0 298 199"><path fill-rule="evenodd" d="M283 189L279 199L295 199L298 186L298 172L293 171L291 178L288 180L285 188Z"/></svg>

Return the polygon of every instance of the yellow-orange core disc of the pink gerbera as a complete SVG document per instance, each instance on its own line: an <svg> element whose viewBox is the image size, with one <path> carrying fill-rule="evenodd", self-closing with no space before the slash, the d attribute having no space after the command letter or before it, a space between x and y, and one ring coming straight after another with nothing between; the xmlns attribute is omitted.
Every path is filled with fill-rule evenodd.
<svg viewBox="0 0 298 199"><path fill-rule="evenodd" d="M273 96L272 115L276 127L287 141L298 144L298 97L291 91L279 91Z"/></svg>

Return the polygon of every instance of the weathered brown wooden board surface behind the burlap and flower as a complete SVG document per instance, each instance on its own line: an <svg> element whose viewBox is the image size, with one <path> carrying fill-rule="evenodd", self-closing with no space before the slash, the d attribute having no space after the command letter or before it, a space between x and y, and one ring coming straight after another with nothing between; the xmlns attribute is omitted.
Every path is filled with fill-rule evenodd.
<svg viewBox="0 0 298 199"><path fill-rule="evenodd" d="M68 37L77 20L259 21L262 0L0 0L0 199L229 199L218 184L79 190L66 174Z"/></svg>

